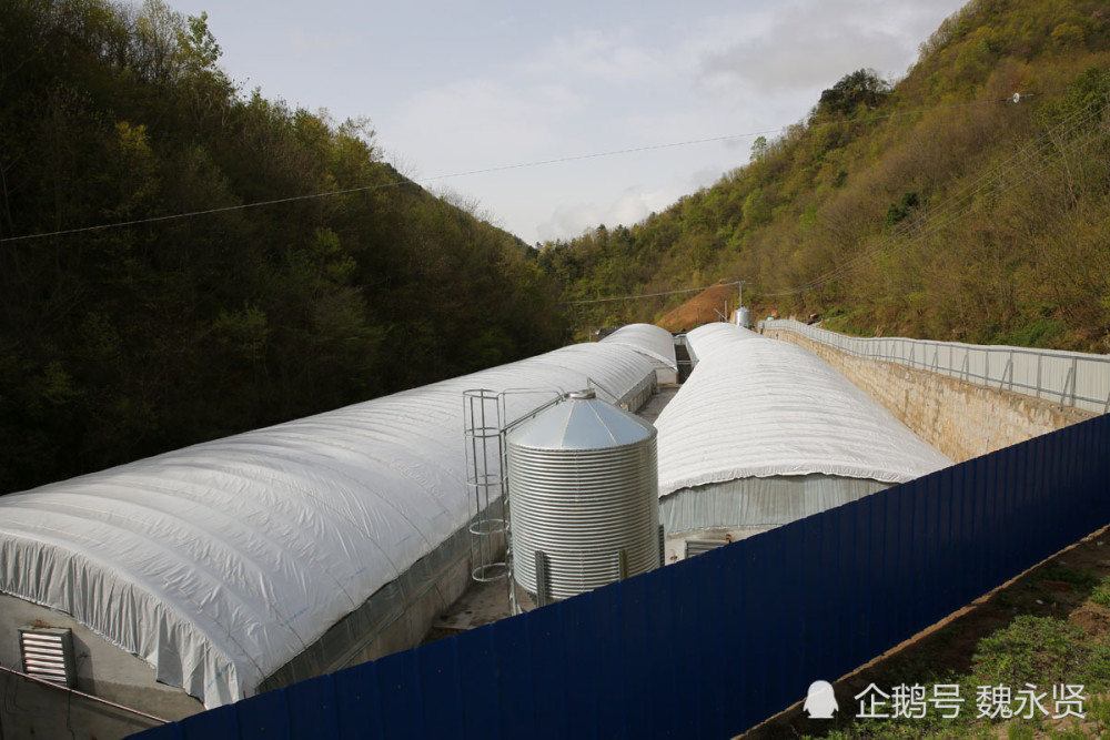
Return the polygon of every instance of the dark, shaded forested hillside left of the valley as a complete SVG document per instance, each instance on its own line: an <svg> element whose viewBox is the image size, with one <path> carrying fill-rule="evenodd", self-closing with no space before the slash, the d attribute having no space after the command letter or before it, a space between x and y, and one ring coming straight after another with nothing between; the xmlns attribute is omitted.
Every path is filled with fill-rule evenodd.
<svg viewBox="0 0 1110 740"><path fill-rule="evenodd" d="M558 343L523 243L219 57L158 0L0 0L0 493Z"/></svg>

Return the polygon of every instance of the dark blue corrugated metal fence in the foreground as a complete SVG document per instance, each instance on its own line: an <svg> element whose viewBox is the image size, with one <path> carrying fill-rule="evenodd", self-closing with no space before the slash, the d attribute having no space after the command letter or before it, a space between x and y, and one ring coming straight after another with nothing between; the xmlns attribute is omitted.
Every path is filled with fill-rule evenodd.
<svg viewBox="0 0 1110 740"><path fill-rule="evenodd" d="M141 733L728 738L1110 523L1110 416Z"/></svg>

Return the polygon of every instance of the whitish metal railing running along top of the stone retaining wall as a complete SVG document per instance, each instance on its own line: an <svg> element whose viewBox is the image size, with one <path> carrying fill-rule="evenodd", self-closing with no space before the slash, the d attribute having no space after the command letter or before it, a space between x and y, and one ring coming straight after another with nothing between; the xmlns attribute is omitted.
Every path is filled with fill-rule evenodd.
<svg viewBox="0 0 1110 740"><path fill-rule="evenodd" d="M901 337L864 338L788 318L761 321L759 328L796 332L856 357L900 363L969 383L1058 401L1060 408L1110 412L1110 355Z"/></svg>

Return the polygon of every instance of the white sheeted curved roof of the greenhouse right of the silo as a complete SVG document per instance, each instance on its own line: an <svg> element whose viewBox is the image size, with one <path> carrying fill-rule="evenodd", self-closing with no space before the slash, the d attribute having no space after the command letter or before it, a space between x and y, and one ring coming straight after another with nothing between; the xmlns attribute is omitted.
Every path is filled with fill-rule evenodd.
<svg viewBox="0 0 1110 740"><path fill-rule="evenodd" d="M810 474L895 484L951 465L801 347L724 323L687 341L698 364L656 420L660 496Z"/></svg>

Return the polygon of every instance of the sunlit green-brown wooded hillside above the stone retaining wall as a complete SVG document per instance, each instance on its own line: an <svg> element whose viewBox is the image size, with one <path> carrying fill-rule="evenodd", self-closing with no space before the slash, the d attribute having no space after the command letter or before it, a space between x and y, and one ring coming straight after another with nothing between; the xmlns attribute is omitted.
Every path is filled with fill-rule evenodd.
<svg viewBox="0 0 1110 740"><path fill-rule="evenodd" d="M1110 352L1106 3L973 0L897 84L844 72L714 186L546 244L543 270L572 301L744 280L755 315ZM683 300L575 321L653 321Z"/></svg>

